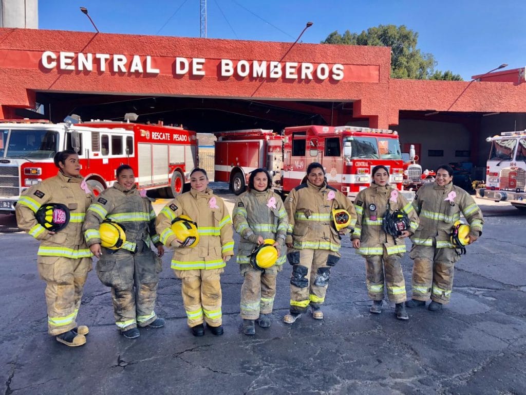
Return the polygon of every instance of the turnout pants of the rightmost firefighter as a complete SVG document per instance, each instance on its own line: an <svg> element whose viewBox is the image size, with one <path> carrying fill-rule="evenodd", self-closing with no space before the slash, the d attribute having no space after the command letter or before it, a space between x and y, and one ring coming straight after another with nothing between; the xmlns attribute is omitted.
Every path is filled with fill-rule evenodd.
<svg viewBox="0 0 526 395"><path fill-rule="evenodd" d="M413 245L412 299L449 303L453 289L454 264L460 259L452 248Z"/></svg>

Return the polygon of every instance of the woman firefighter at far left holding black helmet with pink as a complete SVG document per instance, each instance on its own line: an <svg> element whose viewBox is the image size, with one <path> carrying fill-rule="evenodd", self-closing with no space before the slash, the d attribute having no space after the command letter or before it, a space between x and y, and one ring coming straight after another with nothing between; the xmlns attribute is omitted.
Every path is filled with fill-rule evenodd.
<svg viewBox="0 0 526 395"><path fill-rule="evenodd" d="M86 343L88 327L75 322L86 276L92 270L91 252L82 223L94 195L80 176L75 151L57 152L58 174L22 193L16 205L19 228L41 244L38 273L46 281L48 333L70 347Z"/></svg>

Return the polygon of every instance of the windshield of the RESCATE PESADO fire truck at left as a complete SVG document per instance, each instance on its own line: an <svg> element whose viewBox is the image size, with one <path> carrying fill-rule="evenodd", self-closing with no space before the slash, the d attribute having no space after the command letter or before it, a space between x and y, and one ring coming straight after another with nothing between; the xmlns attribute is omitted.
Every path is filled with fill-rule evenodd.
<svg viewBox="0 0 526 395"><path fill-rule="evenodd" d="M58 151L58 133L42 129L0 129L0 157L52 158Z"/></svg>

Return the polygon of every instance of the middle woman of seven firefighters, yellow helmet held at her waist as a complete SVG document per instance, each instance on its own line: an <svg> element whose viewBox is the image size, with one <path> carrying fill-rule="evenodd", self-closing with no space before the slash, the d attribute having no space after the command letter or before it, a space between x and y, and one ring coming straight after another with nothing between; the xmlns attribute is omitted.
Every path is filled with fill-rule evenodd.
<svg viewBox="0 0 526 395"><path fill-rule="evenodd" d="M236 261L245 278L240 310L243 333L247 335L256 333L255 320L261 328L270 327L276 278L285 262L289 223L281 197L270 190L271 183L266 170L252 171L248 191L237 198L232 213L234 228L241 235ZM267 246L267 241L272 245ZM269 264L271 266L266 267Z"/></svg>

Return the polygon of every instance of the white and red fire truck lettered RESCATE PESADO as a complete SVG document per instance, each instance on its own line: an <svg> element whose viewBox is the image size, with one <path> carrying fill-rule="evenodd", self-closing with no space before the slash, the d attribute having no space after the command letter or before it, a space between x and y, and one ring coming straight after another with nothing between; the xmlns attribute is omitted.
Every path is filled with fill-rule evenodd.
<svg viewBox="0 0 526 395"><path fill-rule="evenodd" d="M120 164L129 164L139 189L171 197L183 192L198 165L196 133L162 124L3 120L0 135L0 213L14 213L24 189L56 175L57 151L78 152L95 194L113 185Z"/></svg>

